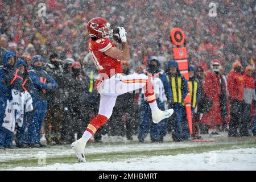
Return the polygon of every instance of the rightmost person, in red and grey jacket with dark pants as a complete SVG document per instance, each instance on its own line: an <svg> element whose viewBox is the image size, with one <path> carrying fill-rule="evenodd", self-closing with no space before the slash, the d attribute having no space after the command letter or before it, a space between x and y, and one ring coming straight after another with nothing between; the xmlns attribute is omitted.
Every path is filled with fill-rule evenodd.
<svg viewBox="0 0 256 182"><path fill-rule="evenodd" d="M255 78L254 68L250 65L245 68L243 75L244 89L243 89L243 119L241 123L240 134L242 137L249 136L248 126L251 121L251 102L256 101L255 96Z"/></svg>

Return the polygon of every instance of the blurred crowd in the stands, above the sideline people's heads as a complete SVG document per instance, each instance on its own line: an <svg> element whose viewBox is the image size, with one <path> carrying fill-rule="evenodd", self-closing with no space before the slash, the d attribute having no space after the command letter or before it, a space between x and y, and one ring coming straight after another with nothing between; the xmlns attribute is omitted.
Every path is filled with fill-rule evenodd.
<svg viewBox="0 0 256 182"><path fill-rule="evenodd" d="M217 1L220 11L210 19L205 11L207 2L197 1L108 1L112 9L103 8L105 3L99 0L78 0L76 6L72 1L58 1L49 6L52 3L47 0L46 4L49 7L46 17L39 19L38 16L31 16L37 8L36 1L3 3L5 11L1 13L4 17L0 20L1 34L6 35L6 40L17 44L17 48L24 47L26 51L27 47L34 47L33 55L44 52L44 49L48 55L59 50L58 55L64 60L86 51L86 20L105 15L106 19L113 19L113 25L127 25L126 29L133 38L129 41L134 45L130 52L138 57L136 60L146 61L148 53L159 53L169 60L171 43L166 39L169 37L168 27L176 26L183 29L188 38L188 55L201 57L198 65L209 66L213 57L222 55L217 58L225 60L225 65L221 64L226 72L230 72L229 65L237 55L243 57L242 60L249 60L255 49L255 39L251 39L255 35L253 1ZM96 5L100 11L94 11ZM17 6L24 10L19 11L18 16L14 11ZM181 11L188 13L177 18ZM65 16L61 16L63 14ZM124 14L130 18L125 18ZM245 32L248 36L244 36ZM156 46L152 49L151 45Z"/></svg>

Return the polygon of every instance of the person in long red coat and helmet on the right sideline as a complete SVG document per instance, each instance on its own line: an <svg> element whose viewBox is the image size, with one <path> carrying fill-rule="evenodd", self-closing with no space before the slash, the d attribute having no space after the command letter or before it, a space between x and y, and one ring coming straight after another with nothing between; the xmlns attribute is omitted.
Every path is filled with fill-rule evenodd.
<svg viewBox="0 0 256 182"><path fill-rule="evenodd" d="M226 123L227 97L226 84L220 74L220 62L218 60L211 61L211 70L205 73L204 78L204 93L212 100L212 107L208 113L203 114L201 122L209 127L209 134L217 135L217 126Z"/></svg>

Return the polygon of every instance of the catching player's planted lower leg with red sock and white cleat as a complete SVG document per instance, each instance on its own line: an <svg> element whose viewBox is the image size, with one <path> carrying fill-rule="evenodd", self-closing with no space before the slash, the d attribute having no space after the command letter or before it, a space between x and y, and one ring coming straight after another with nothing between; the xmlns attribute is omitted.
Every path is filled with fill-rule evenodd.
<svg viewBox="0 0 256 182"><path fill-rule="evenodd" d="M87 126L87 129L85 130L85 133L82 135L82 137L77 140L76 142L73 142L71 144L71 147L75 151L76 157L81 163L85 163L85 156L84 156L84 148L87 143L87 141L92 137L96 131L104 125L104 123L108 121L108 118L104 115L98 114L96 118L92 120L92 122L89 123Z"/></svg>

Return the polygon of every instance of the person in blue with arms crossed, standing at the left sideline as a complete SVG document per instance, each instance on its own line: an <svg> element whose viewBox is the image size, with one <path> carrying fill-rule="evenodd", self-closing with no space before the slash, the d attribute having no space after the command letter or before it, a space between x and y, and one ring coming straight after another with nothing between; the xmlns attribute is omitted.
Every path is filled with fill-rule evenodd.
<svg viewBox="0 0 256 182"><path fill-rule="evenodd" d="M39 55L33 57L31 68L28 75L31 78L31 96L33 100L34 110L30 113L29 125L27 131L27 143L29 147L43 147L41 144L41 129L47 110L46 93L48 90L55 89L57 82L43 71L43 58Z"/></svg>

